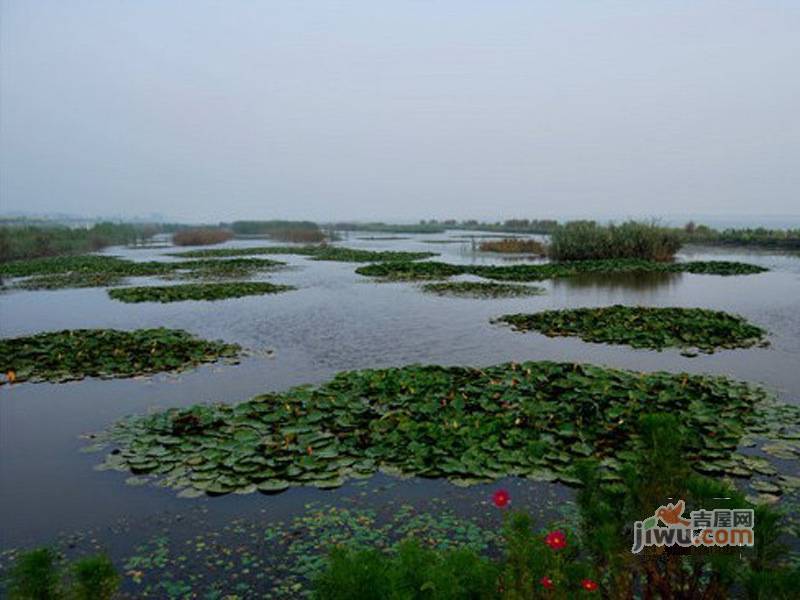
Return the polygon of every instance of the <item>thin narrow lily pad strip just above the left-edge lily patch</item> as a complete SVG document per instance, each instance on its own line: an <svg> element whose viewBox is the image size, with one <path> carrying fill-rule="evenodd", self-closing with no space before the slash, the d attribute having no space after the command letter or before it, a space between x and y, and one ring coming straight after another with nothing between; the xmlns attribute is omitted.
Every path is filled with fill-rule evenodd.
<svg viewBox="0 0 800 600"><path fill-rule="evenodd" d="M184 300L225 300L242 296L277 294L296 288L262 281L230 283L184 283L108 290L108 295L122 302L183 302Z"/></svg>

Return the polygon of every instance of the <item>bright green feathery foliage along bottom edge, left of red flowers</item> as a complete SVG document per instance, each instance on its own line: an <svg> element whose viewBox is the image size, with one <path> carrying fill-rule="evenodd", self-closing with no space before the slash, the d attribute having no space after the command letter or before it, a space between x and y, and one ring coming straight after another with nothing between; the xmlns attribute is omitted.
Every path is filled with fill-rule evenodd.
<svg viewBox="0 0 800 600"><path fill-rule="evenodd" d="M496 597L496 569L467 549L435 551L414 540L391 554L336 549L314 582L317 600L482 600Z"/></svg>

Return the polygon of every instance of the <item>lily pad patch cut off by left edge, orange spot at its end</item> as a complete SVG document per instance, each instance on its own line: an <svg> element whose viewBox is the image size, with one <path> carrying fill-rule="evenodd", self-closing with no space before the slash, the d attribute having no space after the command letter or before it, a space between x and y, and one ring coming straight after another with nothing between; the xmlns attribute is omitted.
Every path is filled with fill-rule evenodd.
<svg viewBox="0 0 800 600"><path fill-rule="evenodd" d="M239 351L180 329L66 329L0 339L0 371L17 382L133 377L234 358Z"/></svg>

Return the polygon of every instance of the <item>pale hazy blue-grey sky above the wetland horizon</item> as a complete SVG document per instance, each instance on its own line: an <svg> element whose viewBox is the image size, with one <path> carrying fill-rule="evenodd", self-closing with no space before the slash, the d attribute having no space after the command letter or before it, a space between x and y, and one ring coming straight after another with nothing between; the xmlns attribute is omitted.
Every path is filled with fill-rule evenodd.
<svg viewBox="0 0 800 600"><path fill-rule="evenodd" d="M2 0L0 212L800 214L797 0Z"/></svg>

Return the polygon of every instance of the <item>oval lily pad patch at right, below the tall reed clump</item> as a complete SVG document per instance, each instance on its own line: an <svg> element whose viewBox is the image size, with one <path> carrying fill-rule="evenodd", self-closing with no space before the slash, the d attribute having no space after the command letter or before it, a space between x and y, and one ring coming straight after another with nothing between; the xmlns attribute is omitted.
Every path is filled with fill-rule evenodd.
<svg viewBox="0 0 800 600"><path fill-rule="evenodd" d="M705 308L621 306L546 310L503 315L497 321L517 331L535 330L549 337L577 336L586 342L625 344L634 348L749 348L766 344L766 331L746 319Z"/></svg>

